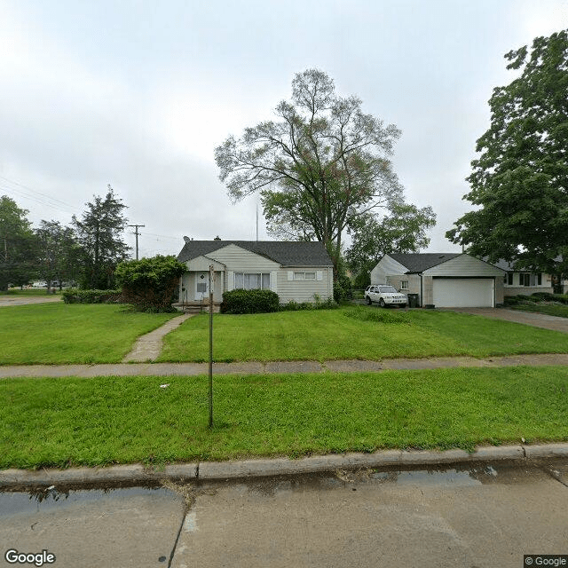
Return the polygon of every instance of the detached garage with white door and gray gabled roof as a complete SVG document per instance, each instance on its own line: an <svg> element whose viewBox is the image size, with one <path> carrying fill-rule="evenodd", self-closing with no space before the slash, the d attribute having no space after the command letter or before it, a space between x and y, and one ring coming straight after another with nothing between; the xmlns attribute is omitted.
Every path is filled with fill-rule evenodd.
<svg viewBox="0 0 568 568"><path fill-rule="evenodd" d="M495 307L503 303L504 274L465 253L393 253L371 271L371 284L417 294L425 307Z"/></svg>

